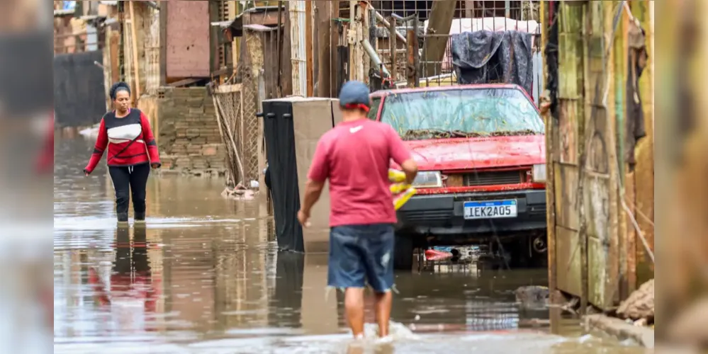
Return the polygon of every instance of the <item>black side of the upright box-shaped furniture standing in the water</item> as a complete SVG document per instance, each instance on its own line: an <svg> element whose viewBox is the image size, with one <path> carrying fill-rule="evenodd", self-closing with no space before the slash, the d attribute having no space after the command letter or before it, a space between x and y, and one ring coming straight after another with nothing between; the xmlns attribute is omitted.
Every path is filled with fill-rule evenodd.
<svg viewBox="0 0 708 354"><path fill-rule="evenodd" d="M298 222L300 190L295 156L293 105L284 101L263 102L263 132L271 179L273 216L278 247L304 252L303 228Z"/></svg>

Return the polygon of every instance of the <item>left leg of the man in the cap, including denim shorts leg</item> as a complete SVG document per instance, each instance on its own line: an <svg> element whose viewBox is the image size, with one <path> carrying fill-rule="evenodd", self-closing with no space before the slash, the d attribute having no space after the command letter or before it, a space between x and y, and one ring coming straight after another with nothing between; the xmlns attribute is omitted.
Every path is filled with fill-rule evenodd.
<svg viewBox="0 0 708 354"><path fill-rule="evenodd" d="M364 235L366 236L366 235ZM344 312L354 337L364 336L364 278L358 227L332 227L327 285L344 290Z"/></svg>

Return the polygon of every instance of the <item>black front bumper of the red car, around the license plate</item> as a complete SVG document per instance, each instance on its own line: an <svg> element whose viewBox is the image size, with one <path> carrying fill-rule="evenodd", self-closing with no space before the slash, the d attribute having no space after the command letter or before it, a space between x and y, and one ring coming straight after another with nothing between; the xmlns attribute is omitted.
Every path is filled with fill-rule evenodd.
<svg viewBox="0 0 708 354"><path fill-rule="evenodd" d="M517 217L465 219L463 203L517 200ZM399 230L406 233L455 236L517 234L546 229L546 191L510 190L484 193L415 195L398 210Z"/></svg>

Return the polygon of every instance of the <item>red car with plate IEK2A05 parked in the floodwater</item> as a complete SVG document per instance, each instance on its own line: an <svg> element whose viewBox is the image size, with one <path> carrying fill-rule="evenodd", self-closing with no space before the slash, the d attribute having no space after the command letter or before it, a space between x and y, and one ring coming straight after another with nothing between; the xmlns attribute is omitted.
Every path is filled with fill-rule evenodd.
<svg viewBox="0 0 708 354"><path fill-rule="evenodd" d="M545 128L524 89L398 89L371 102L369 118L398 131L420 170L398 211L395 268L411 269L414 249L456 244L488 244L524 265L545 258Z"/></svg>

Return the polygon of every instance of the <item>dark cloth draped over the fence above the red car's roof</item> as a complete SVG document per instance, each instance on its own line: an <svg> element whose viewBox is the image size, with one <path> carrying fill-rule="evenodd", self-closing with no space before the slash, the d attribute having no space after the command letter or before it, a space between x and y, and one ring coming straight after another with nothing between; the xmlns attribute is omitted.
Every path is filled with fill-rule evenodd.
<svg viewBox="0 0 708 354"><path fill-rule="evenodd" d="M532 34L479 30L452 35L452 64L459 84L517 84L532 93Z"/></svg>

